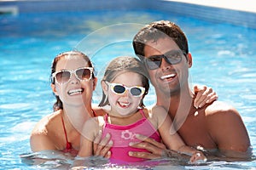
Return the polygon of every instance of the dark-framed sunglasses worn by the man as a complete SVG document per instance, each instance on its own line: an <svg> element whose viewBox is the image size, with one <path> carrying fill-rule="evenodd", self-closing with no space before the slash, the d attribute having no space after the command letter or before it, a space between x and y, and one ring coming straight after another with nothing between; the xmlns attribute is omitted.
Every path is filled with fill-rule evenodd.
<svg viewBox="0 0 256 170"><path fill-rule="evenodd" d="M164 58L168 64L177 65L181 62L183 54L187 54L183 50L172 50L166 54L153 55L144 58L144 63L147 65L148 69L154 70L160 68L162 59Z"/></svg>

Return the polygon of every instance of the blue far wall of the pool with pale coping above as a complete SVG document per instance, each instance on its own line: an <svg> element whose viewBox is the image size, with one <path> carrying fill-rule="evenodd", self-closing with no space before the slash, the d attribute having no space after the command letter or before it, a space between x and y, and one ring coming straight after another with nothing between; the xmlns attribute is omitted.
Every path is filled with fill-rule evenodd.
<svg viewBox="0 0 256 170"><path fill-rule="evenodd" d="M228 8L217 5L217 0L214 4L207 4L202 0L195 0L193 3L189 0L119 0L119 3L116 0L97 0L97 3L94 0L86 0L86 2L84 0L0 0L0 14L149 9L256 29L256 8L255 11L237 8L237 6Z"/></svg>

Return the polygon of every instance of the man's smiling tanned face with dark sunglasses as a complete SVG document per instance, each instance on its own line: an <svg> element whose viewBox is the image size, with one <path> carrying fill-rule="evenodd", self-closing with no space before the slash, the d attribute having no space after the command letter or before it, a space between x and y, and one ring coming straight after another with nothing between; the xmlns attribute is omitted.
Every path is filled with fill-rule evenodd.
<svg viewBox="0 0 256 170"><path fill-rule="evenodd" d="M175 51L181 52L180 62L170 64L166 59L161 58L161 63L153 70L148 68L151 83L157 93L175 94L188 82L189 67L192 65L191 55L188 54L188 60L181 49L178 48L176 42L170 37L160 38L157 41L149 41L144 48L145 57L148 59L154 55L172 54ZM152 59L154 60L154 59Z"/></svg>

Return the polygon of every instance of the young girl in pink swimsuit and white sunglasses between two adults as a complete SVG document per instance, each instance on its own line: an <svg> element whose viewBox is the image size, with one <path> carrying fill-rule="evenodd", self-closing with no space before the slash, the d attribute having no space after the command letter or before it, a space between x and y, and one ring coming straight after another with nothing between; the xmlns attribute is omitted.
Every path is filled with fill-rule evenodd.
<svg viewBox="0 0 256 170"><path fill-rule="evenodd" d="M102 136L110 133L113 140L111 158L120 161L143 161L129 156L129 151L147 151L131 148L131 142L139 142L137 134L164 142L170 150L191 156L190 161L206 160L198 150L183 143L177 133L171 133L172 120L160 106L148 110L143 98L148 94L148 78L138 59L119 57L108 65L102 79L103 97L100 103L105 116L91 118L84 124L79 156L93 155L93 140L102 130ZM110 105L109 109L106 109ZM88 130L90 129L90 131Z"/></svg>

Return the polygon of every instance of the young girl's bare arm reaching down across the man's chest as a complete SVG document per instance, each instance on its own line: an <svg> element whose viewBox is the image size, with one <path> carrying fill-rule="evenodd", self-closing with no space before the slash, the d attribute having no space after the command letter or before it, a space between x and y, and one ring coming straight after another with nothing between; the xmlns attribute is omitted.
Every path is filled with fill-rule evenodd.
<svg viewBox="0 0 256 170"><path fill-rule="evenodd" d="M168 149L191 156L190 162L192 163L197 160L206 161L207 158L201 151L184 144L183 139L178 135L175 127L172 127L172 120L163 107L155 106L152 111L153 116L157 116L160 136Z"/></svg>

